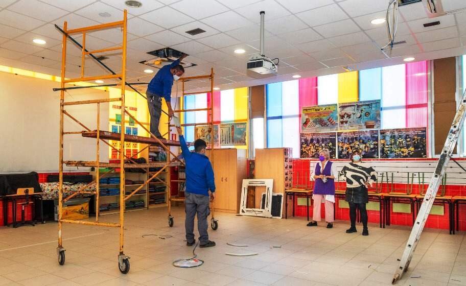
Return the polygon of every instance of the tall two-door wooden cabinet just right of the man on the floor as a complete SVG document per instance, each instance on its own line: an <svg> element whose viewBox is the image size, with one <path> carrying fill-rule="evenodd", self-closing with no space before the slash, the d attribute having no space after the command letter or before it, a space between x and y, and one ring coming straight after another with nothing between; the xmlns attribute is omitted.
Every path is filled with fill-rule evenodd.
<svg viewBox="0 0 466 286"><path fill-rule="evenodd" d="M246 179L246 150L207 150L215 174L215 210L239 212L241 185Z"/></svg>

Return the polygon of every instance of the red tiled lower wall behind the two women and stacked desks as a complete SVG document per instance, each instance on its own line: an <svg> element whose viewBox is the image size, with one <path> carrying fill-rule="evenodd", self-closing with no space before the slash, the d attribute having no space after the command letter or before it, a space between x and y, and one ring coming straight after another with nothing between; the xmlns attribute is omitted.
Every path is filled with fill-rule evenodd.
<svg viewBox="0 0 466 286"><path fill-rule="evenodd" d="M309 180L309 160L294 160L293 161L293 187L297 188L313 188L313 182ZM337 189L345 189L346 184L344 182L336 182ZM424 185L424 192L427 190L428 184ZM393 192L403 192L406 190L406 184L394 183ZM412 194L420 194L422 186L413 185ZM382 185L382 193L391 192L391 187L388 184ZM466 185L447 185L445 190L446 196L466 196ZM309 214L312 218L312 200L310 202ZM426 227L429 228L440 228L449 229L449 209L447 205L445 207L444 216L431 215L429 216ZM324 208L322 207L321 217L325 217ZM379 223L379 211L368 210L367 211L369 222ZM298 206L297 198L295 199L295 215L298 217L306 217L306 206ZM335 202L335 219L336 220L349 220L349 209L338 207L338 198ZM390 224L392 225L412 225L412 214L411 213L398 213L392 212L390 209ZM459 205L459 227L460 230L466 230L466 205Z"/></svg>

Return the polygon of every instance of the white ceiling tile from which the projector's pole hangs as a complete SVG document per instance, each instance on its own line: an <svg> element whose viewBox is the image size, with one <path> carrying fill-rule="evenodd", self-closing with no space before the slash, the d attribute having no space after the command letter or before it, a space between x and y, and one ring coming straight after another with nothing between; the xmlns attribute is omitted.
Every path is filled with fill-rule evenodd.
<svg viewBox="0 0 466 286"><path fill-rule="evenodd" d="M264 0L236 9L236 12L238 12L240 15L255 23L259 23L261 21L261 15L259 14L261 11L266 11L265 20L271 20L290 15L290 12L283 9L281 5L273 0Z"/></svg>

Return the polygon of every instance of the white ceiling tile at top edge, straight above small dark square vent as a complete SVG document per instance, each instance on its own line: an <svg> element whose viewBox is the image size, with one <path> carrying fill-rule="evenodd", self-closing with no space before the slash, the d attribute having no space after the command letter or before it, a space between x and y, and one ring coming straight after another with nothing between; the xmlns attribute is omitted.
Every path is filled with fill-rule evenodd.
<svg viewBox="0 0 466 286"><path fill-rule="evenodd" d="M195 19L202 19L228 10L215 0L181 0L170 6Z"/></svg>

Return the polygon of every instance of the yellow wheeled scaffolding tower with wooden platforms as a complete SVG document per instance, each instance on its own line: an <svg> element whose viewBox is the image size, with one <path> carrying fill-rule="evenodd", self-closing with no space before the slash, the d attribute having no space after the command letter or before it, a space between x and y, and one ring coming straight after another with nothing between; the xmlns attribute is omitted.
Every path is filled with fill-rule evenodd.
<svg viewBox="0 0 466 286"><path fill-rule="evenodd" d="M123 20L122 21L116 21L116 22L110 22L110 23L104 23L101 25L95 25L95 26L90 26L90 27L83 27L79 29L67 29L67 22L64 22L63 29L59 28L58 26L55 26L58 30L61 31L63 34L63 44L62 44L62 63L61 63L61 87L60 88L54 88L54 90L60 90L60 145L59 145L59 193L58 193L58 247L57 247L57 256L58 256L58 263L60 265L64 265L65 263L65 249L62 244L62 224L63 223L69 223L69 224L81 224L81 225L92 225L92 226L105 226L105 227L119 227L120 228L120 253L118 255L118 265L119 269L123 274L126 274L129 272L130 264L129 264L129 256L125 255L124 249L123 249L123 243L124 243L124 211L125 211L125 201L127 201L129 198L131 198L133 195L135 195L140 189L142 189L145 185L150 183L152 180L157 179L160 180L157 176L159 176L164 170L170 169L171 166L177 166L180 163L184 164L176 154L174 154L170 146L177 146L179 147L179 141L171 141L171 140L160 140L158 139L154 134L150 133L150 131L141 123L139 122L133 115L129 113L128 110L126 110L125 106L125 87L128 85L129 87L133 88L131 85L126 83L126 35L127 35L127 12L126 10L124 11L123 15ZM123 42L122 46L116 46L116 47L110 47L108 49L100 49L100 50L94 50L94 51L88 51L86 49L86 33L87 32L92 32L92 31L98 31L98 30L104 30L104 29L111 29L111 28L118 28L120 27L123 32ZM75 39L73 39L70 35L73 34L82 34L82 45L78 43ZM65 78L65 63L66 63L66 42L67 39L71 39L75 44L77 44L79 47L82 49L82 62L81 62L81 76L79 78L75 79L66 79ZM108 66L106 66L104 63L102 63L97 57L94 56L94 54L97 53L104 53L104 52L110 52L110 51L122 51L122 71L120 74L114 73ZM102 66L104 66L107 70L111 72L111 75L103 75L103 76L94 76L94 77L85 77L84 76L84 59L85 56L90 56L97 60ZM181 113L181 112L193 112L193 111L200 111L200 110L207 110L209 111L209 122L204 124L204 125L209 125L211 127L211 146L214 146L213 142L213 87L214 87L214 70L211 69L211 74L207 76L196 76L196 77L188 77L188 78L183 78L182 84L183 84L183 95L188 95L188 94L195 94L195 93L186 93L184 92L184 81L187 80L195 80L195 79L204 79L204 78L209 78L211 80L211 90L208 92L211 92L211 103L209 104L208 108L204 109L181 109L181 110L175 110L175 112ZM97 100L85 100L85 101L68 101L65 102L65 90L67 89L75 89L75 88L83 88L83 87L65 87L65 84L70 84L70 83L75 83L75 82L81 82L81 81L91 81L91 80L98 80L98 79L120 79L121 83L119 84L114 84L117 86L121 87L121 98L114 98L114 99L97 99ZM138 83L135 83L138 84ZM104 86L112 86L113 84L108 84ZM89 86L89 87L96 87L96 86ZM135 90L133 88L133 90ZM139 92L138 92L139 93ZM197 92L201 93L201 92ZM141 94L141 93L139 93ZM142 96L142 94L141 94ZM107 132L107 131L102 131L100 130L100 104L101 103L108 103L108 102L121 102L121 132L120 133L113 133L113 132ZM66 106L70 105L82 105L82 104L97 104L97 130L90 130L87 126L85 126L83 123L77 120L73 115L69 114L66 110ZM82 128L84 128L84 131L72 131L72 132L65 132L63 130L63 119L64 115L68 116L79 124ZM125 135L125 115L128 115L136 124L141 126L145 131L147 131L150 134L150 137L143 137L143 136L135 136L135 135ZM169 126L170 123L168 123ZM193 124L183 124L183 126L192 126ZM201 125L201 124L194 124L194 125ZM64 161L63 160L63 139L64 135L68 134L81 134L83 137L90 137L90 138L96 138L97 142L97 148L96 148L96 160L95 161ZM109 144L108 141L106 140L120 140L120 148L117 149L113 147L111 144ZM100 141L104 142L104 144L108 145L110 148L113 150L116 150L120 154L120 162L119 163L106 163L106 162L100 162L100 154L99 154L99 148L100 148ZM150 145L157 145L162 147L164 150L167 151L167 161L166 162L156 162L156 163L136 163L130 156L126 156L125 154L125 142L137 142L139 144L146 144L147 146L142 149L141 151L138 152L141 153L145 149L147 149ZM137 155L137 154L136 154ZM173 156L173 157L172 157ZM131 163L129 163L131 161ZM178 162L176 162L178 161ZM86 167L95 167L96 168L96 179L87 185L81 187L78 189L76 192L74 192L72 195L69 195L66 198L63 198L63 164L66 164L67 166L86 166ZM100 186L99 186L99 180L100 178L104 177L108 173L111 172L108 171L106 173L100 174L100 168L110 168L111 170L119 168L120 169L120 218L119 218L119 223L105 223L105 222L99 222L99 196L100 196ZM146 169L148 172L147 180L144 184L133 190L129 195L125 194L125 168L142 168ZM158 171L154 173L149 173L149 168L160 168ZM170 173L170 172L169 172ZM170 178L170 176L168 176ZM90 186L91 184L96 184L96 191L95 192L87 192L86 188ZM169 208L169 224L170 226L173 226L173 217L171 216L171 201L173 199L170 198L170 181L166 184L167 185L167 201L168 201L168 208ZM66 202L67 200L75 197L78 194L93 194L96 196L96 221L91 222L91 221L73 221L73 220L66 220L63 219L63 202ZM214 213L214 212L212 212ZM214 214L212 214L212 228L217 229L217 221L214 219Z"/></svg>

